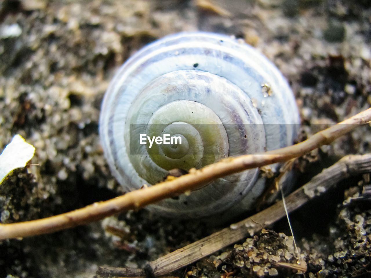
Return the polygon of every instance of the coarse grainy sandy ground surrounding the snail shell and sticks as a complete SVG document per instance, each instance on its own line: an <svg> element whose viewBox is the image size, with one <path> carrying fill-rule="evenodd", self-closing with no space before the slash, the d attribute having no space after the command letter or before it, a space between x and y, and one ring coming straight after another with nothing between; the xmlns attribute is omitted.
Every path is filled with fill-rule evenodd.
<svg viewBox="0 0 371 278"><path fill-rule="evenodd" d="M370 107L370 1L215 0L219 12L202 2L0 2L0 149L19 133L36 147L32 163L39 164L28 173L14 172L0 185L1 223L55 215L121 193L99 144L101 100L116 69L140 47L166 34L218 32L255 46L289 80L305 136ZM370 152L370 143L370 126L364 126L313 152L301 165L298 183L341 156ZM357 186L361 180L350 179L344 186ZM318 211L308 215L313 207L293 216L299 246L322 269L309 277L351 277L370 269L371 212L341 205L336 211L343 193L337 193L332 206L322 207L328 209L326 217ZM301 228L303 223L311 228ZM121 228L121 237L105 232L107 225ZM129 212L51 235L0 242L0 277L93 277L99 265L142 267L215 229L197 221L169 222L145 210ZM287 224L275 230L287 234ZM249 259L238 257L253 247L263 248L259 242L275 242L263 237L240 242L241 248L218 258L232 269L245 269L233 274L239 277L275 275L254 270ZM276 255L290 257L285 256L290 239L272 237L284 250ZM352 252L360 248L362 252ZM219 264L209 266L211 270L205 265L187 268L188 277L226 272Z"/></svg>

